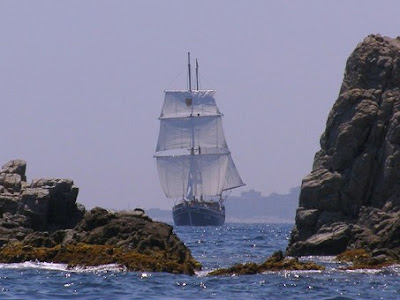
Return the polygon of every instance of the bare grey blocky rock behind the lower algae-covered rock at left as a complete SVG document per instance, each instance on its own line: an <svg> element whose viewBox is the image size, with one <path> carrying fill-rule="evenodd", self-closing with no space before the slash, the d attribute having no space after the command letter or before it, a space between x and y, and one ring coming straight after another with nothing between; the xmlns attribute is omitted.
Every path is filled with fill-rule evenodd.
<svg viewBox="0 0 400 300"><path fill-rule="evenodd" d="M25 171L26 162L19 159L0 170L0 214L19 214L34 230L70 226L75 215L83 214L72 180L36 179L28 184Z"/></svg>

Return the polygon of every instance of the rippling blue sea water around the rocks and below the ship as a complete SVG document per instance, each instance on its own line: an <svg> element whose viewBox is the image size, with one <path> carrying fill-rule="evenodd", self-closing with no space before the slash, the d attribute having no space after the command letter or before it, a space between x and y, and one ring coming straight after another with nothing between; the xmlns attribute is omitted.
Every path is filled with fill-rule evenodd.
<svg viewBox="0 0 400 300"><path fill-rule="evenodd" d="M70 270L52 263L0 264L0 299L400 299L400 266L343 271L333 257L304 258L325 265L325 271L207 276L285 250L292 226L175 228L203 264L195 276L126 272L116 265Z"/></svg>

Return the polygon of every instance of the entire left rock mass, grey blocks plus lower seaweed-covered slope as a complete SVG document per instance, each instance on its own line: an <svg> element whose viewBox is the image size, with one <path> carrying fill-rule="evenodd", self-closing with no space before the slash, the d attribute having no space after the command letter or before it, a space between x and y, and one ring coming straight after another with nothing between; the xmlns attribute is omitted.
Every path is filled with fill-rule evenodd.
<svg viewBox="0 0 400 300"><path fill-rule="evenodd" d="M171 226L142 210L86 211L76 203L72 180L28 185L25 170L24 161L13 160L0 171L0 262L117 263L132 271L185 274L200 268Z"/></svg>

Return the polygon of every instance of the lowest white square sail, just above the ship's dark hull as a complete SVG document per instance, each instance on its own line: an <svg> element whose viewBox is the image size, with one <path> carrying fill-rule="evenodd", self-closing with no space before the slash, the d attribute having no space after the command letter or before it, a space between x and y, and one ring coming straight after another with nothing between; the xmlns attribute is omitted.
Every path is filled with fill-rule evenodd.
<svg viewBox="0 0 400 300"><path fill-rule="evenodd" d="M229 154L159 156L161 186L169 198L218 196L225 188Z"/></svg>

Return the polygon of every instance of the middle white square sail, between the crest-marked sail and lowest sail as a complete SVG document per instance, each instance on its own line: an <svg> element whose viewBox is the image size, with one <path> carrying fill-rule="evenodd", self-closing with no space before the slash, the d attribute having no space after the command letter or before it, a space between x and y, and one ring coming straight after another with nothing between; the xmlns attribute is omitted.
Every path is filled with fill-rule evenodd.
<svg viewBox="0 0 400 300"><path fill-rule="evenodd" d="M161 119L156 152L191 147L227 149L221 116Z"/></svg>

